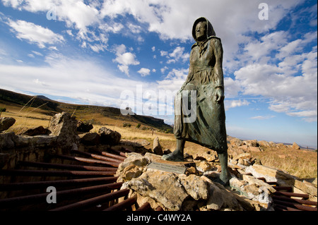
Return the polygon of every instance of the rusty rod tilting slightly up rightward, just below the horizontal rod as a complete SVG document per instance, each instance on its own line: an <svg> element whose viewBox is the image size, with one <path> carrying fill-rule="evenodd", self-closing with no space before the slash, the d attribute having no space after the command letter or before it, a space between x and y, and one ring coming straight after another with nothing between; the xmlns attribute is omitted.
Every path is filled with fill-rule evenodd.
<svg viewBox="0 0 318 225"><path fill-rule="evenodd" d="M20 182L20 183L6 183L0 184L0 191L4 190L30 190L47 188L49 186L67 187L67 186L78 186L78 185L97 185L98 183L114 183L117 181L117 176L110 177L99 177L99 178L81 178L71 179L62 181L37 181L37 182Z"/></svg>

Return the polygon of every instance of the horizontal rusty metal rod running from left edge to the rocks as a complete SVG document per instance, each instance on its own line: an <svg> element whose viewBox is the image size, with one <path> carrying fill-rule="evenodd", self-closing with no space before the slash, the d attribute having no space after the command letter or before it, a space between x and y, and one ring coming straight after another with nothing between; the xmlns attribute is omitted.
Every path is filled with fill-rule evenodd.
<svg viewBox="0 0 318 225"><path fill-rule="evenodd" d="M116 171L45 171L26 169L0 169L2 176L114 176Z"/></svg>

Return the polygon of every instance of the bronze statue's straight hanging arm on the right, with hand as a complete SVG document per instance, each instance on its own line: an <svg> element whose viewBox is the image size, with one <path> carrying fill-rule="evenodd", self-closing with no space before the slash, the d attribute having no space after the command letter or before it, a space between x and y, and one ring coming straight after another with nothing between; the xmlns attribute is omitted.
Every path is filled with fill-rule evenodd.
<svg viewBox="0 0 318 225"><path fill-rule="evenodd" d="M214 56L216 64L214 65L214 88L216 89L214 99L216 102L222 102L224 99L224 80L223 80L223 47L220 39L213 39Z"/></svg>

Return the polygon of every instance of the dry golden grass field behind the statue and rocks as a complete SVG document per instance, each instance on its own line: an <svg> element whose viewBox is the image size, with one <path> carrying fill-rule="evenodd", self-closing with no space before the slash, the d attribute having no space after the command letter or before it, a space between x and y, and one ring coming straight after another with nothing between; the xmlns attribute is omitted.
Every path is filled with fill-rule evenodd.
<svg viewBox="0 0 318 225"><path fill-rule="evenodd" d="M0 106L1 107L1 106ZM33 107L18 107L14 104L6 105L6 111L2 112L1 116L10 116L16 119L16 123L6 130L6 132L16 132L23 128L31 128L35 126L43 126L47 128L52 116L47 116L45 111L35 109ZM98 113L81 113L81 111L70 111L73 116L76 116L81 121L93 122L93 130L97 132L102 126L106 126L112 130L121 133L122 139L145 139L151 143L148 147L152 147L153 140L158 136L160 145L163 150L175 150L175 137L171 133L163 133L158 130L153 130L148 126L141 125L136 128L137 123L131 121L124 121L123 118L108 118ZM124 123L130 123L130 127L124 127ZM186 149L195 151L205 149L200 145L187 142ZM208 150L208 149L206 149ZM261 163L265 166L270 166L275 169L281 169L288 174L298 176L299 178L317 178L317 152L310 152L306 150L294 150L292 148L267 148L264 152L252 152L253 157L261 159Z"/></svg>

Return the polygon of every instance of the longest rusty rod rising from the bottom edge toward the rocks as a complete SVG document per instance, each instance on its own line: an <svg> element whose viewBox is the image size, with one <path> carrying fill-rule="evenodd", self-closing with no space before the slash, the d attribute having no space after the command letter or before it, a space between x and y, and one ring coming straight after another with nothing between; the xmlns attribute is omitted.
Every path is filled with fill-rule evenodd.
<svg viewBox="0 0 318 225"><path fill-rule="evenodd" d="M124 197L125 195L129 194L129 189L118 190L113 193L108 193L106 195L100 195L98 197L92 197L88 200L83 200L80 202L75 202L70 205L65 205L63 207L58 207L56 209L52 209L50 211L67 211L67 210L78 210L84 209L87 207L91 207L93 205L99 205L103 202L108 202L110 200L117 199L119 197Z"/></svg>

